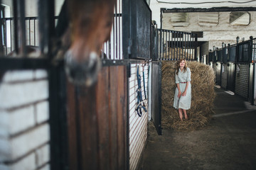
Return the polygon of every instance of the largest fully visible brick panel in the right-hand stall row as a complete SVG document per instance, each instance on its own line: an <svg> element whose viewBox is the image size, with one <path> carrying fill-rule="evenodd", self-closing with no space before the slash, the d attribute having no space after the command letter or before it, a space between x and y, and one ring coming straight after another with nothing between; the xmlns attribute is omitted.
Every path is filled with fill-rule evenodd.
<svg viewBox="0 0 256 170"><path fill-rule="evenodd" d="M249 64L235 64L235 94L248 98L249 87Z"/></svg>

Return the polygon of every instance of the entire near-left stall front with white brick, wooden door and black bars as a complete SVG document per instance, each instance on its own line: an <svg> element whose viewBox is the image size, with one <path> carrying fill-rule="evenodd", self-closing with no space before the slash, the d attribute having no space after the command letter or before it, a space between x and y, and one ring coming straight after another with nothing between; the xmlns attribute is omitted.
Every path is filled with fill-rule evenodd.
<svg viewBox="0 0 256 170"><path fill-rule="evenodd" d="M14 1L11 11L19 12L1 27L0 169L137 169L148 122L148 111L141 117L136 111L137 69L142 99L151 107L148 4L117 0L102 69L97 83L86 87L68 81L63 60L53 64L50 40L58 16L54 1L38 2L38 16L24 17L25 1ZM42 57L30 57L26 47L39 48ZM12 51L22 57L12 57Z"/></svg>

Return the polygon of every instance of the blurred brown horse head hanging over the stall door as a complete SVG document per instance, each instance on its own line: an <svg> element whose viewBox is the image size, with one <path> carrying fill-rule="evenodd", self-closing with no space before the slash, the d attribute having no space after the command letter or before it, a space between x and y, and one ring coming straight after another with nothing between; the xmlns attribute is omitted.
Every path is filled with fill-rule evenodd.
<svg viewBox="0 0 256 170"><path fill-rule="evenodd" d="M92 85L101 68L102 44L110 38L116 0L68 0L71 44L65 70L75 84Z"/></svg>

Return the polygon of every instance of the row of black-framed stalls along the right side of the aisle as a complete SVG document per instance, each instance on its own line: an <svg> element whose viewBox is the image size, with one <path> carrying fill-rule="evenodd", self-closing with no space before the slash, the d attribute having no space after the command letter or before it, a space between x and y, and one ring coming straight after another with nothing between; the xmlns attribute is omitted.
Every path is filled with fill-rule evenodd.
<svg viewBox="0 0 256 170"><path fill-rule="evenodd" d="M255 38L210 52L216 84L255 104ZM221 78L220 78L221 77Z"/></svg>

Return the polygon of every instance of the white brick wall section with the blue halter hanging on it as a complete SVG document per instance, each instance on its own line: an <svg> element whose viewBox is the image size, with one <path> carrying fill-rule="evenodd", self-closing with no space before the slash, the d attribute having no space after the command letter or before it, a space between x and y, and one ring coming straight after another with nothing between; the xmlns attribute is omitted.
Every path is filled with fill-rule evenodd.
<svg viewBox="0 0 256 170"><path fill-rule="evenodd" d="M129 78L129 165L130 169L137 169L139 159L142 157L142 151L146 145L147 137L147 118L148 113L143 112L142 117L137 115L135 108L137 106L137 66L140 67L142 77L142 64L132 64L132 76ZM144 67L145 86L148 81L148 65ZM142 99L144 100L144 88L142 78Z"/></svg>

